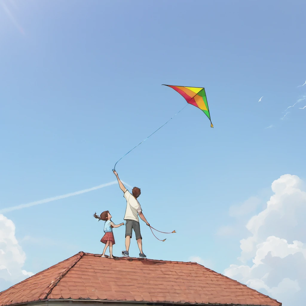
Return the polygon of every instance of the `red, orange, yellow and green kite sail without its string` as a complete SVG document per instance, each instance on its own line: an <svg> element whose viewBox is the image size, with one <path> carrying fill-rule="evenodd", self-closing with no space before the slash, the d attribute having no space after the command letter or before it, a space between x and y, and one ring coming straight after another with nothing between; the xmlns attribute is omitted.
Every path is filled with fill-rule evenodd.
<svg viewBox="0 0 306 306"><path fill-rule="evenodd" d="M174 86L166 84L162 85L173 88L175 91L177 91L180 95L182 95L185 98L187 103L200 108L200 110L203 110L204 114L208 117L208 119L211 122L209 108L206 99L206 93L203 87ZM211 123L211 128L213 127L214 126Z"/></svg>

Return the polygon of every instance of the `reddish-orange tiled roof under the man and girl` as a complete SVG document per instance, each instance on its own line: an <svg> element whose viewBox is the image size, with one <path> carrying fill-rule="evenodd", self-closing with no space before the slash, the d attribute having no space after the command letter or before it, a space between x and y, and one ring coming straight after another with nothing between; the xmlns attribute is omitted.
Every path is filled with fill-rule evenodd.
<svg viewBox="0 0 306 306"><path fill-rule="evenodd" d="M80 252L2 291L0 306L51 299L281 305L198 263Z"/></svg>

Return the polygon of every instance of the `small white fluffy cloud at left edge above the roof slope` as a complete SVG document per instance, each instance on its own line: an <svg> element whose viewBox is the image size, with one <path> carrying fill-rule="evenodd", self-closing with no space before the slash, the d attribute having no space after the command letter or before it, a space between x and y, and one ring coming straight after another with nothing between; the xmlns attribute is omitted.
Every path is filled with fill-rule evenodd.
<svg viewBox="0 0 306 306"><path fill-rule="evenodd" d="M0 214L0 279L5 282L20 282L32 276L22 269L25 254L15 237L15 225Z"/></svg>

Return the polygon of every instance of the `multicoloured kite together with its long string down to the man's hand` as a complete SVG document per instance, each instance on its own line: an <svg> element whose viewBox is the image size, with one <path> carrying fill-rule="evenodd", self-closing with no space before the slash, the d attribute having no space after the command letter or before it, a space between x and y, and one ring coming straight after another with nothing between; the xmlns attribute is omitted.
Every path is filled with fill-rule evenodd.
<svg viewBox="0 0 306 306"><path fill-rule="evenodd" d="M204 112L204 114L208 117L209 121L211 122L210 113L208 109L207 104L207 98L204 87L187 87L187 86L174 86L174 85L166 85L162 84L168 87L173 88L175 91L177 91L179 94L181 94L188 104L191 104L193 106L196 106L200 108ZM176 116L179 112L181 112L188 104L186 104L181 110L179 110L174 116ZM166 123L168 123L174 116L172 116ZM166 123L164 123L161 127L159 127L155 132L157 132L159 129L161 129ZM211 123L211 128L214 126ZM144 139L142 142L137 144L135 147L133 147L129 152L134 150L136 147L138 147L140 144L142 144L145 140L147 140L150 136L152 136L155 132L153 132L151 135L149 135L146 139ZM125 153L125 155L129 154L129 152ZM125 157L123 155L121 159ZM119 159L114 166L114 170L116 170L117 163L121 160ZM153 232L152 232L153 233ZM154 235L154 234L153 234ZM156 237L156 236L155 236ZM158 239L158 238L157 238Z"/></svg>

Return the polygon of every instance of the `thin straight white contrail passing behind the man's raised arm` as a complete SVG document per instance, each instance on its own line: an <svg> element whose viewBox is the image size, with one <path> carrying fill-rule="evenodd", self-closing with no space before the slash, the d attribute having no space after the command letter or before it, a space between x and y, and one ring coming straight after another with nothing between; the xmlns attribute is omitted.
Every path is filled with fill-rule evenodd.
<svg viewBox="0 0 306 306"><path fill-rule="evenodd" d="M126 184L123 181L122 181L122 183L125 184L128 187L131 187L130 185ZM54 196L52 198L47 198L47 199L44 199L44 200L39 200L39 201L35 201L35 202L30 202L30 203L27 203L27 204L20 204L20 205L17 205L17 206L3 208L3 209L0 210L0 214L3 214L5 212L9 212L9 211L22 209L22 208L31 207L31 206L38 205L38 204L43 204L43 203L48 203L48 202L52 202L52 201L56 201L56 200L69 198L69 196L77 196L78 194L82 194L82 193L85 193L85 192L90 192L92 190L97 190L97 189L107 187L107 186L110 186L110 185L114 185L114 184L118 184L118 181L112 181L112 182L102 184L102 185L99 185L99 186L95 186L95 187L91 187L91 188L88 188L88 189L83 189L83 190L76 191L76 192L66 193L66 194L63 194L62 196Z"/></svg>

